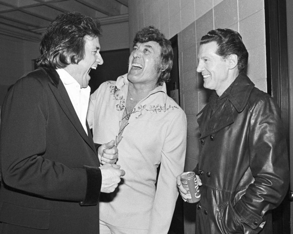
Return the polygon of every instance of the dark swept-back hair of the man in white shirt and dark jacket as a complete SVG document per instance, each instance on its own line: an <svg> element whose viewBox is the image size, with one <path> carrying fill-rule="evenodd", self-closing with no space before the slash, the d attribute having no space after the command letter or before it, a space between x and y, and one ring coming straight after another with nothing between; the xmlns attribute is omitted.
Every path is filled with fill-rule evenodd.
<svg viewBox="0 0 293 234"><path fill-rule="evenodd" d="M63 13L50 23L42 38L37 66L56 69L78 64L85 56L85 36L101 35L98 20L77 12Z"/></svg>

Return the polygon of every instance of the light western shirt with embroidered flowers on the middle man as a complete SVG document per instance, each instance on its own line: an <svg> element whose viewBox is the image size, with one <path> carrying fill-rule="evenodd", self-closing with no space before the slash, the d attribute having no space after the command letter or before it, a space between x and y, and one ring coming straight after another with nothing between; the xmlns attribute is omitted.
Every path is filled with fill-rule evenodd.
<svg viewBox="0 0 293 234"><path fill-rule="evenodd" d="M94 142L109 142L118 135L127 91L125 74L116 82L104 82L90 96L87 120ZM126 174L115 192L106 194L107 201L100 199L100 220L167 234L178 197L176 176L184 169L186 115L166 94L165 83L137 103L122 137L117 164Z"/></svg>

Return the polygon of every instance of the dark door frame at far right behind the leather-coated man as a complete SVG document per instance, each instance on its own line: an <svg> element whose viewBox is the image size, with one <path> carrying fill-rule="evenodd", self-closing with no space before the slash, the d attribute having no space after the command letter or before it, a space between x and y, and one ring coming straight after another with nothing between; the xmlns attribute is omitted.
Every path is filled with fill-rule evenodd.
<svg viewBox="0 0 293 234"><path fill-rule="evenodd" d="M289 152L289 80L285 0L265 0L268 93L281 108ZM290 192L290 191L289 191ZM290 201L286 196L272 211L273 233L290 233Z"/></svg>

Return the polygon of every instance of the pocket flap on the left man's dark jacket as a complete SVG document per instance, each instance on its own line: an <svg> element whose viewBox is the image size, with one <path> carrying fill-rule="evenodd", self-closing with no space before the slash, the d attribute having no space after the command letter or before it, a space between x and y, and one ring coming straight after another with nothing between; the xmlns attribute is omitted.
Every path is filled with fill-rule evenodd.
<svg viewBox="0 0 293 234"><path fill-rule="evenodd" d="M3 202L0 221L34 229L49 229L50 211Z"/></svg>

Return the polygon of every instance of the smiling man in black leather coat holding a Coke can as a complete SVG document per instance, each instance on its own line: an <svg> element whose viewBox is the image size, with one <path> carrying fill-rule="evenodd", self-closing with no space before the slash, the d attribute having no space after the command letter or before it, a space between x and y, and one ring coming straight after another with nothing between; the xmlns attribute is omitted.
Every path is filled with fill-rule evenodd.
<svg viewBox="0 0 293 234"><path fill-rule="evenodd" d="M217 29L201 38L197 72L214 92L197 120L196 233L272 233L270 211L288 189L280 109L243 74L247 61L239 33ZM179 176L177 185L186 200Z"/></svg>

